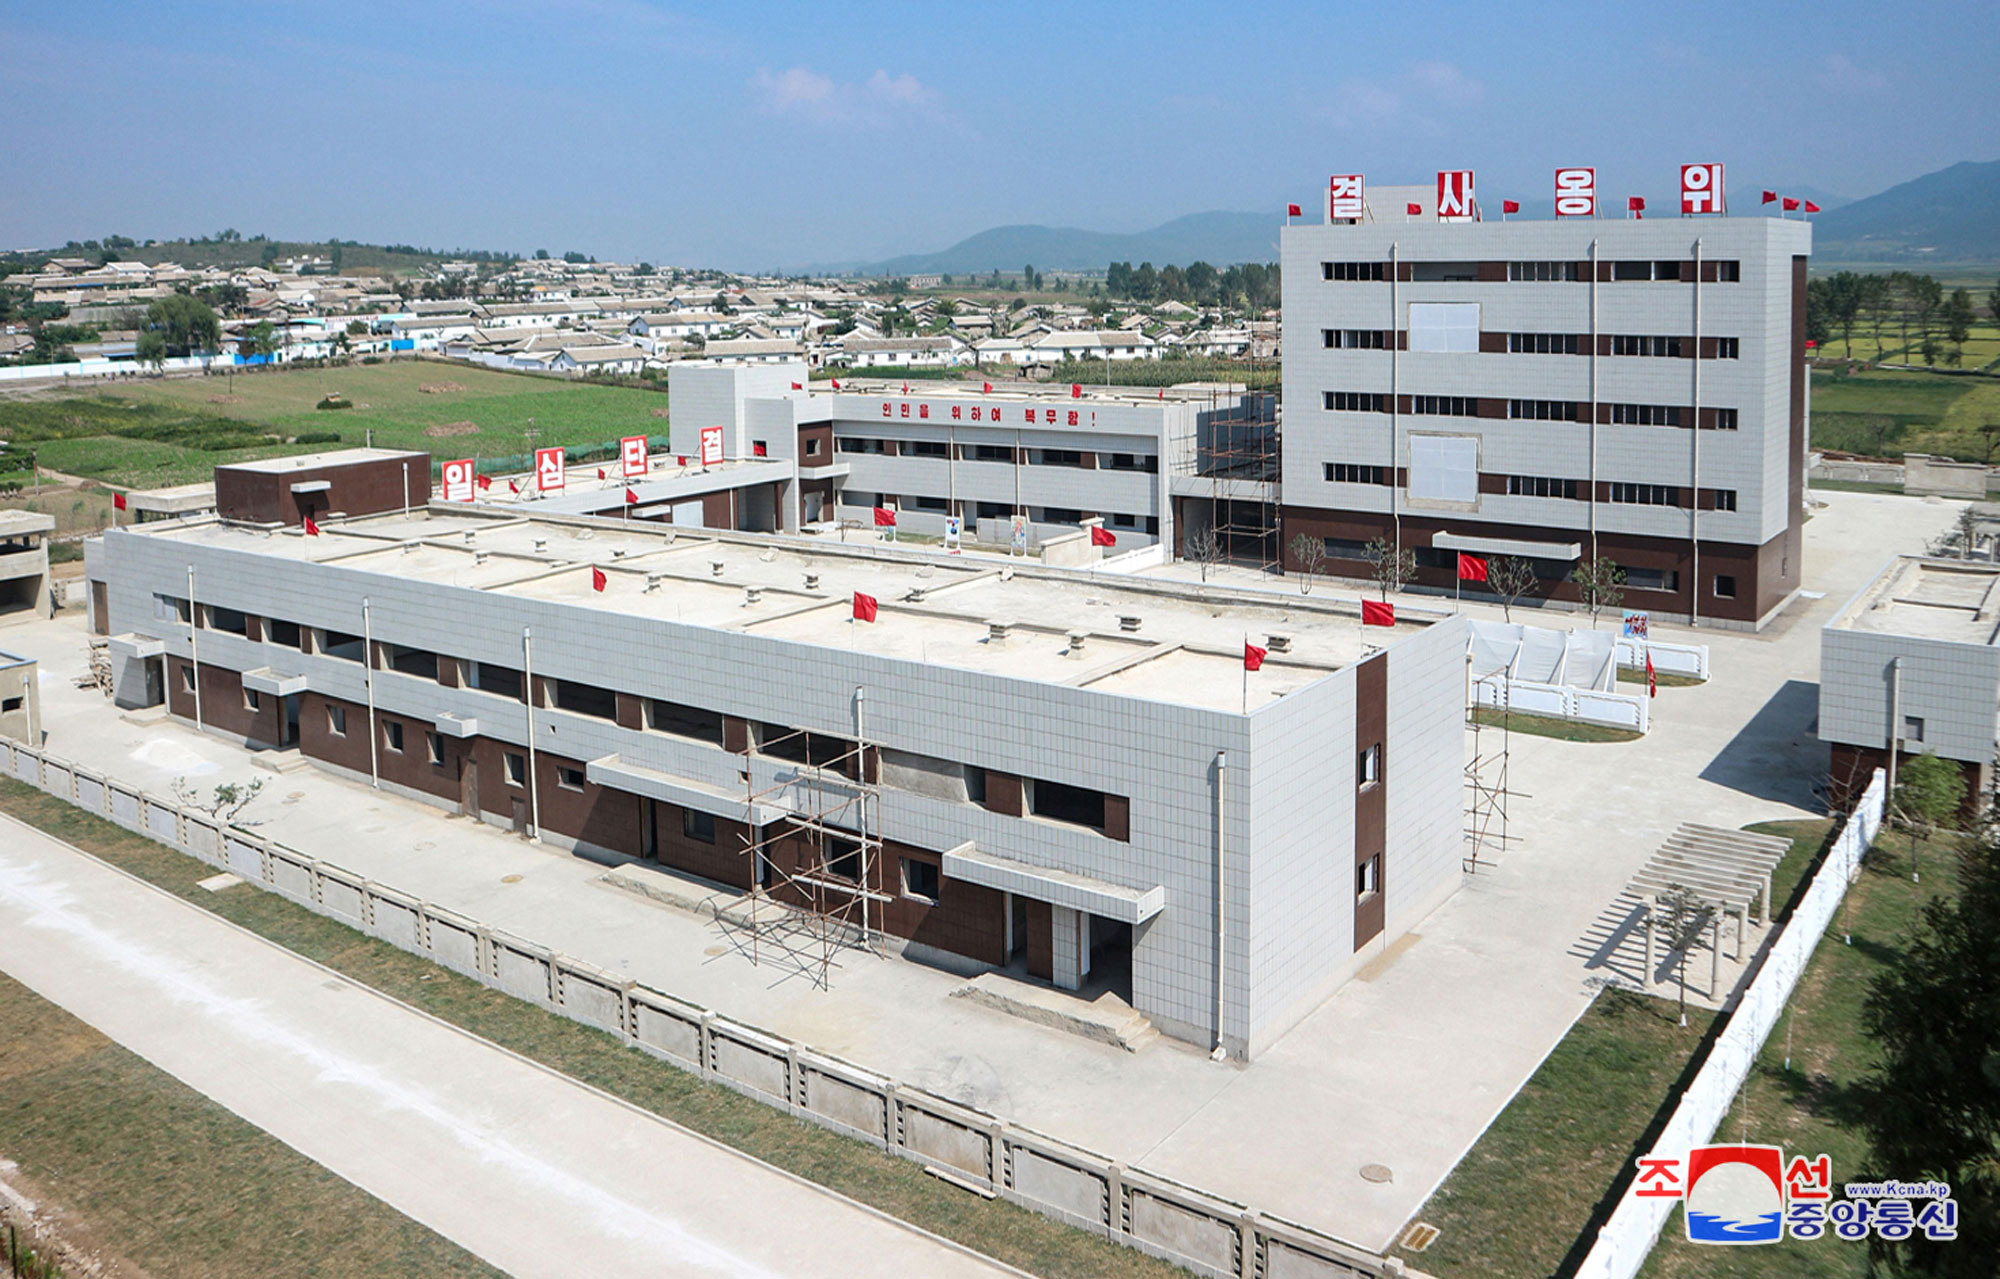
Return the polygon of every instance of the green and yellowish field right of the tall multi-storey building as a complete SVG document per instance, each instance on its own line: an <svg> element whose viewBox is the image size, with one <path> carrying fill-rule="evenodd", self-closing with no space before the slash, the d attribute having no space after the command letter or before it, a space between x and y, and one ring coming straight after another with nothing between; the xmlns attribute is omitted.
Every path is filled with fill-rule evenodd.
<svg viewBox="0 0 2000 1279"><path fill-rule="evenodd" d="M1876 458L1906 452L1984 462L2000 380L1862 370L1812 374L1812 446Z"/></svg>

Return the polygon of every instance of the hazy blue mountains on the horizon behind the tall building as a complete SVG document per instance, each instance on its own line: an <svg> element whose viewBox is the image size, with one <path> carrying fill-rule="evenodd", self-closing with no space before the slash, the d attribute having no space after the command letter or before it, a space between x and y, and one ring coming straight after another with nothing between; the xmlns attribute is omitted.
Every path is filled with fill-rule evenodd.
<svg viewBox="0 0 2000 1279"><path fill-rule="evenodd" d="M1752 212L1758 184L1730 184L1738 214ZM2000 262L2000 160L1962 162L1924 174L1866 200L1846 200L1818 188L1784 194L1818 204L1814 256L1830 262ZM1498 200L1496 196L1492 196ZM1600 200L1608 196L1600 194ZM1652 208L1674 208L1672 192L1648 194ZM1316 208L1316 206L1308 206ZM1522 200L1522 218L1554 216L1550 200ZM904 254L852 268L862 276L978 274L1036 270L1104 270L1112 262L1276 262L1278 226L1270 212L1206 212L1174 218L1144 232L1092 232L1074 226L996 226L934 254Z"/></svg>

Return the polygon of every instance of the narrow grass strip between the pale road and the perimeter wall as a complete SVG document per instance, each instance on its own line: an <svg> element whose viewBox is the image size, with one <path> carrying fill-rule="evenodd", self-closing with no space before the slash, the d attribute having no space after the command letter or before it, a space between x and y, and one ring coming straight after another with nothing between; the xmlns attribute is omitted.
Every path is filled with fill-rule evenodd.
<svg viewBox="0 0 2000 1279"><path fill-rule="evenodd" d="M276 893L250 887L208 893L196 887L196 881L212 875L214 867L20 781L0 779L0 811L474 1035L1030 1273L1052 1279L1170 1279L1186 1275L1164 1261L1070 1229L1004 1199L980 1199L944 1185L908 1159L884 1155L860 1141L792 1119L722 1085L704 1083L626 1047L604 1031L502 995L386 941L376 941L316 915ZM4 1099L0 1099L0 1107L4 1107ZM6 1153L4 1141L4 1127L0 1127L0 1153ZM262 1273L304 1275L314 1271L274 1267ZM378 1269L354 1273L426 1271L404 1271L390 1259Z"/></svg>

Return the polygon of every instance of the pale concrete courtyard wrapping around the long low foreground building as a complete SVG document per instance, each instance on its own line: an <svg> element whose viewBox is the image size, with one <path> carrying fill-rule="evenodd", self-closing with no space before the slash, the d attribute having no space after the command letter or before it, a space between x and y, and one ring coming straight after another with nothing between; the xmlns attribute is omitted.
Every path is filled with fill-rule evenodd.
<svg viewBox="0 0 2000 1279"><path fill-rule="evenodd" d="M1802 598L1760 636L1656 628L1708 643L1714 679L1660 689L1632 743L1514 735L1512 845L1252 1065L1170 1041L1140 1053L1032 1025L916 963L846 955L830 989L752 967L714 923L598 883L604 867L318 773L270 775L222 741L122 719L78 689L84 630L0 628L44 663L48 747L166 793L268 777L264 833L662 991L714 1007L1026 1127L1370 1249L1386 1247L1584 1011L1606 909L1682 821L1818 811L1818 628L1956 506L1826 494L1806 524ZM1330 590L1326 586L1318 590ZM1498 610L1468 608L1490 614ZM1516 610L1516 620L1520 612ZM1574 614L1530 618L1584 624ZM1360 1167L1382 1163L1388 1183Z"/></svg>

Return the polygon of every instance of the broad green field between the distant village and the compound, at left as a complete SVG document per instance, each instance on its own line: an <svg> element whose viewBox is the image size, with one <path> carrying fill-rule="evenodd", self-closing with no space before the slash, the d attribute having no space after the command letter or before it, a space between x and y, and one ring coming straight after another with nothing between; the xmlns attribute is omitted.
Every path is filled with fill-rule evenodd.
<svg viewBox="0 0 2000 1279"><path fill-rule="evenodd" d="M354 408L314 408L328 392ZM454 434L426 434L446 426ZM326 432L338 432L340 440L298 442L302 434ZM0 438L34 448L44 468L136 488L208 480L222 462L352 448L370 432L378 448L420 448L440 460L472 456L482 472L526 470L526 454L536 446L566 446L582 462L582 450L610 456L620 436L664 442L666 396L404 360L122 382L64 400L0 400Z"/></svg>

